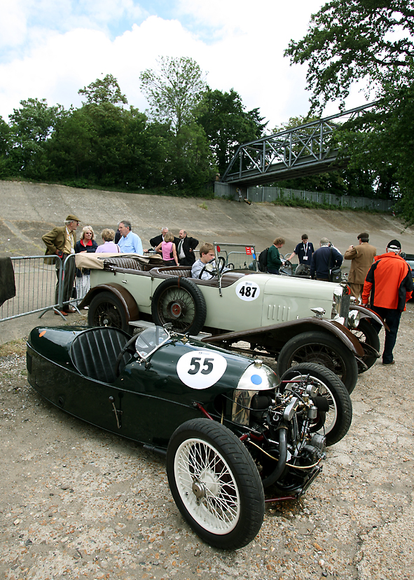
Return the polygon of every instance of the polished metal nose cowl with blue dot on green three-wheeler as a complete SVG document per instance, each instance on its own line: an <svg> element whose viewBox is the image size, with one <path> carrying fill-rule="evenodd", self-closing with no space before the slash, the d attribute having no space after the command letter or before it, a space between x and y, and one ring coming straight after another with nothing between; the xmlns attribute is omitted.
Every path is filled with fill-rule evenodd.
<svg viewBox="0 0 414 580"><path fill-rule="evenodd" d="M249 426L251 399L258 391L276 389L279 379L276 373L261 360L255 360L243 372L233 391L231 420L239 425Z"/></svg>

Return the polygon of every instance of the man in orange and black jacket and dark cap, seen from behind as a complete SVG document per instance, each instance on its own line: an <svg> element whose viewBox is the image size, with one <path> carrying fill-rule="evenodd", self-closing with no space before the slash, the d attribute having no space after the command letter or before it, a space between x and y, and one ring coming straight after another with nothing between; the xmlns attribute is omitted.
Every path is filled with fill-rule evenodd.
<svg viewBox="0 0 414 580"><path fill-rule="evenodd" d="M401 243L392 240L387 245L385 254L376 256L374 263L366 274L362 304L370 307L384 319L389 330L385 328L385 344L382 353L383 365L394 365L392 351L396 342L401 312L406 309L406 302L413 295L413 276L405 259L401 256ZM380 332L381 325L371 321L373 328Z"/></svg>

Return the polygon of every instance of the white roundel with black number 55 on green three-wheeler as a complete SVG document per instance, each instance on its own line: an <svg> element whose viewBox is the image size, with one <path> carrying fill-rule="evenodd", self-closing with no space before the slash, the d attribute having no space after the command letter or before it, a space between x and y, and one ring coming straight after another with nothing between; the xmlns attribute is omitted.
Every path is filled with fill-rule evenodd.
<svg viewBox="0 0 414 580"><path fill-rule="evenodd" d="M214 351L191 351L179 358L177 375L191 389L208 389L223 376L227 360Z"/></svg>

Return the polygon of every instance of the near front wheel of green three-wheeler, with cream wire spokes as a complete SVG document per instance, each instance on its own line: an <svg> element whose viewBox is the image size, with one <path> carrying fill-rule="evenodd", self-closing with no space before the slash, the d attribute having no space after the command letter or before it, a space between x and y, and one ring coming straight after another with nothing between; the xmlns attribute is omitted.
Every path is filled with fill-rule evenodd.
<svg viewBox="0 0 414 580"><path fill-rule="evenodd" d="M210 546L236 550L261 528L264 492L248 450L227 427L191 419L174 431L167 476L181 515Z"/></svg>

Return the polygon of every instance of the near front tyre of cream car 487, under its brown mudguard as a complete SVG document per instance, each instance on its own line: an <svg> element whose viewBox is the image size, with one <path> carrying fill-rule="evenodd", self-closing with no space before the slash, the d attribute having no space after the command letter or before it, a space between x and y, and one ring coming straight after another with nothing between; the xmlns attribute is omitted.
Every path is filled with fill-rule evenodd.
<svg viewBox="0 0 414 580"><path fill-rule="evenodd" d="M332 370L352 393L358 380L357 359L350 349L326 332L303 332L291 338L277 357L277 374L300 363L317 363Z"/></svg>

